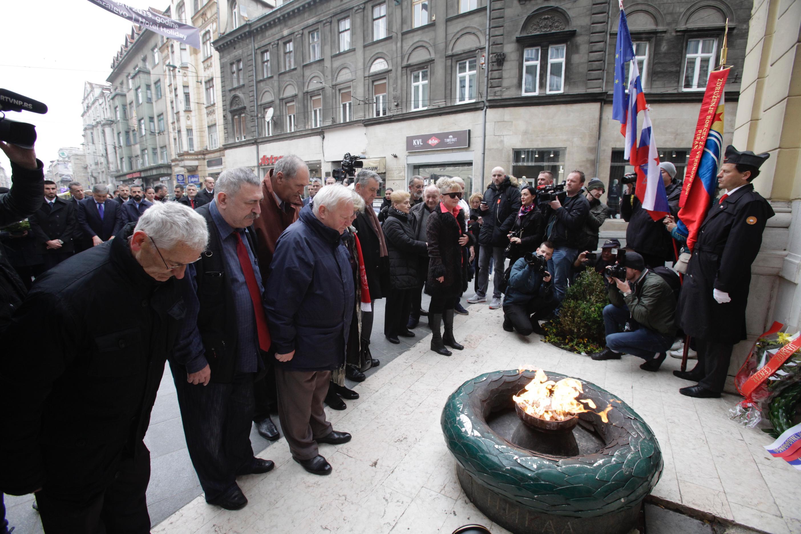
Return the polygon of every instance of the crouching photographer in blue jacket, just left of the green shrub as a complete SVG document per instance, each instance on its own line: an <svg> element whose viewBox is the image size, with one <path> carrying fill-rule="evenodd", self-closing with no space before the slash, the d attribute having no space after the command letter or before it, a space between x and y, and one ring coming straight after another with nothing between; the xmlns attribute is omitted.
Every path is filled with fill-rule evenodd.
<svg viewBox="0 0 801 534"><path fill-rule="evenodd" d="M543 242L533 254L526 253L512 266L509 286L503 300L503 329L518 334L545 335L540 319L545 319L557 303L553 299L551 275L545 271L553 255L553 243Z"/></svg>

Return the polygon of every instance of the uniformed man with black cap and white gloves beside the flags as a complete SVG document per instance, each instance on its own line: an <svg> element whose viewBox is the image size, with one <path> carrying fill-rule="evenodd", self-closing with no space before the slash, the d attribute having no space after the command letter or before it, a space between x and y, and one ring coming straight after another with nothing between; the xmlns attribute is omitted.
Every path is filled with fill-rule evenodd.
<svg viewBox="0 0 801 534"><path fill-rule="evenodd" d="M746 339L751 263L759 253L765 223L774 215L752 182L769 157L726 148L718 173L718 187L725 193L713 201L701 224L678 299L680 325L695 338L698 350L692 371L673 371L698 382L678 390L682 395L719 397L731 350Z"/></svg>

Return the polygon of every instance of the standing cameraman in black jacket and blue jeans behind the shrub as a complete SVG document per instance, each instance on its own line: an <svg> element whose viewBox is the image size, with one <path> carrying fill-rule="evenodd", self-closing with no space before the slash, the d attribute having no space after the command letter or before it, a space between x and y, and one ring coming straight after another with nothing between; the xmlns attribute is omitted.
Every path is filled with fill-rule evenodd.
<svg viewBox="0 0 801 534"><path fill-rule="evenodd" d="M548 271L553 274L557 302L565 298L567 280L583 244L582 228L590 213L590 202L581 194L584 180L582 171L572 171L565 180L565 192L549 202L545 239L553 243Z"/></svg>

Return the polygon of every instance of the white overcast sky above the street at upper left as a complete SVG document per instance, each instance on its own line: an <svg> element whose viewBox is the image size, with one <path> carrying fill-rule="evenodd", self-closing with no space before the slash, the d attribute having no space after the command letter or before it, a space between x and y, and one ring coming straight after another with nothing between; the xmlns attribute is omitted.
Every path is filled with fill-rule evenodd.
<svg viewBox="0 0 801 534"><path fill-rule="evenodd" d="M46 169L58 148L82 148L83 83L106 82L111 58L132 24L89 0L0 2L0 87L44 102L49 109L44 115L23 111L8 117L36 126L36 156ZM126 3L148 7L140 0ZM2 151L0 165L10 172Z"/></svg>

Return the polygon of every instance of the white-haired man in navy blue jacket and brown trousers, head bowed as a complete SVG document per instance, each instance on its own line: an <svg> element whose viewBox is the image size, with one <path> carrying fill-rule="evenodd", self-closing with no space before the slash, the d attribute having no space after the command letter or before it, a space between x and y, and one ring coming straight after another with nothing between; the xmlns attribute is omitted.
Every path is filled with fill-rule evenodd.
<svg viewBox="0 0 801 534"><path fill-rule="evenodd" d="M278 416L295 459L315 475L331 473L318 444L344 444L325 418L331 371L342 366L356 289L342 234L353 220L352 192L325 186L278 239L267 283L276 352Z"/></svg>

